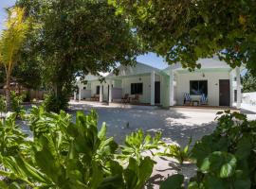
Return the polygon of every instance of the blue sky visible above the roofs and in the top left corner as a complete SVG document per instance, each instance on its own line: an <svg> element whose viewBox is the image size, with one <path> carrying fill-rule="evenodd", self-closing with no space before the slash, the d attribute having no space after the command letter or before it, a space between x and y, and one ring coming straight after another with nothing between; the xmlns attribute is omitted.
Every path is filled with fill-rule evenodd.
<svg viewBox="0 0 256 189"><path fill-rule="evenodd" d="M3 29L3 22L6 19L5 8L14 5L15 0L0 0L0 30ZM137 57L137 61L154 66L159 69L167 67L167 63L155 55L155 53L148 53L147 55Z"/></svg>

